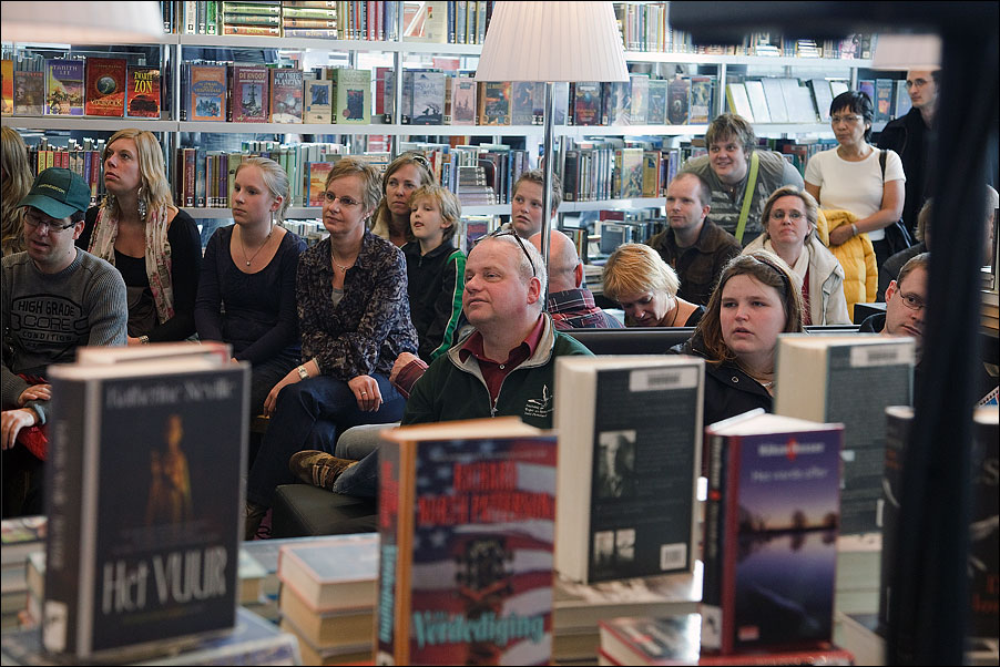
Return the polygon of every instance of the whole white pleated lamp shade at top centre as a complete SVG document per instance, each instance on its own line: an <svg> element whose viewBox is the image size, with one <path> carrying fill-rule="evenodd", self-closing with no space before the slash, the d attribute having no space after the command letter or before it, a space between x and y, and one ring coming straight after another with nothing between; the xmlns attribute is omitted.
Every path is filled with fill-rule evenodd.
<svg viewBox="0 0 1000 667"><path fill-rule="evenodd" d="M627 81L611 2L497 2L479 81Z"/></svg>

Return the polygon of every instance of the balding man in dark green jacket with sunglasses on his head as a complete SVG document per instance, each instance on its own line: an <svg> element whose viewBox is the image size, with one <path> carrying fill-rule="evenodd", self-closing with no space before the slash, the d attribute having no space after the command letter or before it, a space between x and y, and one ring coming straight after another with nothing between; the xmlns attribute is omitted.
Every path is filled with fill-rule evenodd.
<svg viewBox="0 0 1000 667"><path fill-rule="evenodd" d="M462 307L475 330L412 384L402 423L517 415L551 428L555 358L590 351L542 314L541 255L513 232L496 232L469 253L465 278ZM399 367L397 360L394 378ZM356 463L316 450L298 452L289 462L306 483L367 497L378 492L377 464L377 449Z"/></svg>

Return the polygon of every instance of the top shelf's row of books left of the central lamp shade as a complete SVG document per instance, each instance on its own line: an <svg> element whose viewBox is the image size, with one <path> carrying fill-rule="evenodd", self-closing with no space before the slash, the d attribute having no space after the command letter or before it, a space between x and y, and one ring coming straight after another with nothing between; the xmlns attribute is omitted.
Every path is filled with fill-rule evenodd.
<svg viewBox="0 0 1000 667"><path fill-rule="evenodd" d="M161 2L165 32L481 44L492 0ZM402 31L399 21L402 21Z"/></svg>

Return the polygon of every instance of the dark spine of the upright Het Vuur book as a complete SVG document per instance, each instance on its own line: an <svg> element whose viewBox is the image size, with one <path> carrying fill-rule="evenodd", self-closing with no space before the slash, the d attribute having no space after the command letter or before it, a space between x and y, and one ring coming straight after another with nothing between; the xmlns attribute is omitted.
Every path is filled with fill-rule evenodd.
<svg viewBox="0 0 1000 667"><path fill-rule="evenodd" d="M45 462L49 537L45 543L45 602L43 644L53 653L76 651L80 645L81 614L91 608L84 604L84 589L93 592L93 572L82 572L84 557L81 540L85 533L93 540L95 529L85 524L83 514L86 451L94 443L88 438L86 419L100 412L89 404L86 382L52 378L53 422L49 459ZM93 471L91 471L93 472ZM91 558L92 561L92 558Z"/></svg>

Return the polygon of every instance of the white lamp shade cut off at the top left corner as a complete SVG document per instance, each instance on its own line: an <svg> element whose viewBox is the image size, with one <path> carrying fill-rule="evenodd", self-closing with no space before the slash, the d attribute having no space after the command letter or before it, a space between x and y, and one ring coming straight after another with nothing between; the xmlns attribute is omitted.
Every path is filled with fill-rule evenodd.
<svg viewBox="0 0 1000 667"><path fill-rule="evenodd" d="M4 42L122 44L163 39L159 2L3 1Z"/></svg>

